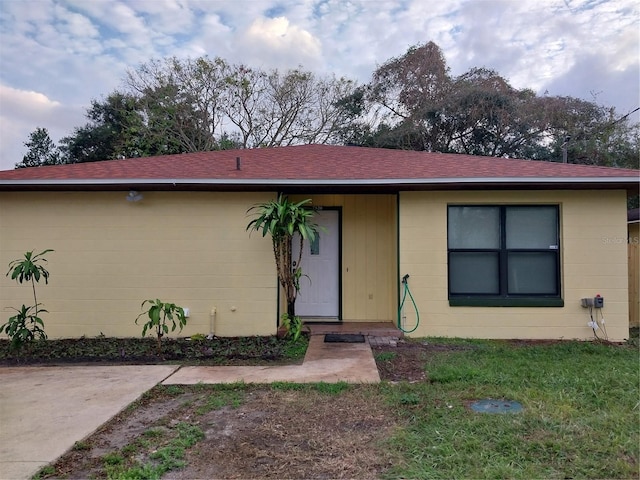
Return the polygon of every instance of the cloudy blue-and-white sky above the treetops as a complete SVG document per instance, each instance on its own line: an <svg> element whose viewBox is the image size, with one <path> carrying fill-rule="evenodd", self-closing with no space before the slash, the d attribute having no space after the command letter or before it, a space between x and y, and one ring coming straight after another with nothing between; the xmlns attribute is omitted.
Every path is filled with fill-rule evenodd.
<svg viewBox="0 0 640 480"><path fill-rule="evenodd" d="M639 23L637 0L0 0L0 170L36 127L57 142L127 69L168 56L364 83L431 40L453 75L492 68L625 114L640 106Z"/></svg>

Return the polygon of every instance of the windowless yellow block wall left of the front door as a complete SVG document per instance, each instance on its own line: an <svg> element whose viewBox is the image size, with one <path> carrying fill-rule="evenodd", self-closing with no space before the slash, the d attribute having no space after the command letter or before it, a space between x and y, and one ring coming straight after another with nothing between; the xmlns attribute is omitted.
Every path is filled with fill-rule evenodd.
<svg viewBox="0 0 640 480"><path fill-rule="evenodd" d="M269 238L245 231L269 193L24 192L0 194L0 312L33 302L6 278L27 250L52 248L38 301L52 338L139 336L145 299L190 309L180 335L276 332L277 280ZM141 319L141 322L143 319ZM176 332L177 334L177 332Z"/></svg>

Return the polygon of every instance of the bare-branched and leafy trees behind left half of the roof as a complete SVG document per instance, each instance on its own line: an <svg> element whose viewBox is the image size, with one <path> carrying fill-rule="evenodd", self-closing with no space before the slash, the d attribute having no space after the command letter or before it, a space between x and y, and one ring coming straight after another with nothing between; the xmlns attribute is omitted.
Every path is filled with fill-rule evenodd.
<svg viewBox="0 0 640 480"><path fill-rule="evenodd" d="M63 138L66 163L172 153L337 143L354 82L221 58L151 60L120 91L93 100L87 124Z"/></svg>

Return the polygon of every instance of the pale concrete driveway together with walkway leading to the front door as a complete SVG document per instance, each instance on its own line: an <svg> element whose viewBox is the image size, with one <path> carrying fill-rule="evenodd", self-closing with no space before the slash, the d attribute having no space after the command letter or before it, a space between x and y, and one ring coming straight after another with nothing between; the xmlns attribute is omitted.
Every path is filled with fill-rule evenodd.
<svg viewBox="0 0 640 480"><path fill-rule="evenodd" d="M380 377L369 343L325 343L321 333L312 334L301 365L0 368L0 479L30 478L159 383L276 381L374 383Z"/></svg>

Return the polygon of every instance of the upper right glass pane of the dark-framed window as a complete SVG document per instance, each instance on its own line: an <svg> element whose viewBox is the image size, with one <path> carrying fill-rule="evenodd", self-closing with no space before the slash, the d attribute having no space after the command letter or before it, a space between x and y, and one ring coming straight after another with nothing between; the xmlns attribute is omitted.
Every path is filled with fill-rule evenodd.
<svg viewBox="0 0 640 480"><path fill-rule="evenodd" d="M558 249L558 209L507 207L507 248Z"/></svg>

